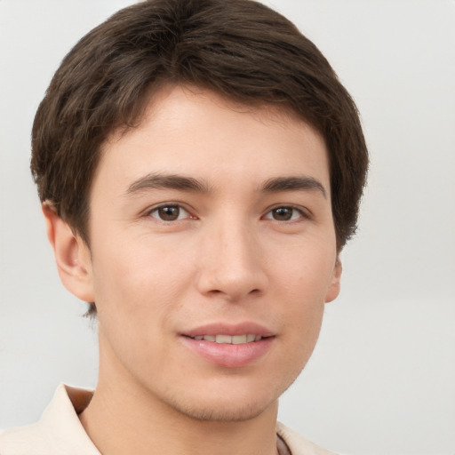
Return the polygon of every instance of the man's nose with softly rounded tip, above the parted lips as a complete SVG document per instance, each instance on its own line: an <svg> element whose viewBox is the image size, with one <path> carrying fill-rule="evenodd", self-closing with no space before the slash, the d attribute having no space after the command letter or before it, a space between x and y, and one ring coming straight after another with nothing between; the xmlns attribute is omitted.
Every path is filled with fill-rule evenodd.
<svg viewBox="0 0 455 455"><path fill-rule="evenodd" d="M244 222L220 222L204 233L198 291L238 301L267 290L266 262L257 233Z"/></svg>

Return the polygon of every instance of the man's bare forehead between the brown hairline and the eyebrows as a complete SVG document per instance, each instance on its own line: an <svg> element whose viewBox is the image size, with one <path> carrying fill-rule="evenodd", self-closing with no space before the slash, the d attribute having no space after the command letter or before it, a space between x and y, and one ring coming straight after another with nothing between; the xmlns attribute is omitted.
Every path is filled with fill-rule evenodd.
<svg viewBox="0 0 455 455"><path fill-rule="evenodd" d="M195 87L165 86L137 127L112 133L94 183L144 172L188 174L214 185L227 176L234 185L259 183L267 173L309 172L329 186L324 140L304 120L289 109L247 106Z"/></svg>

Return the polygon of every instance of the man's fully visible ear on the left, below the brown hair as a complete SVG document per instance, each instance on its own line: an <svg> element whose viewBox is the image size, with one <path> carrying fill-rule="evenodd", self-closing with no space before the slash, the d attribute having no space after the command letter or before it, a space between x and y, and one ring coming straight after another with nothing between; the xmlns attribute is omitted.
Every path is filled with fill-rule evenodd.
<svg viewBox="0 0 455 455"><path fill-rule="evenodd" d="M92 259L88 246L80 236L73 234L52 204L44 202L41 208L61 283L78 299L93 302Z"/></svg>

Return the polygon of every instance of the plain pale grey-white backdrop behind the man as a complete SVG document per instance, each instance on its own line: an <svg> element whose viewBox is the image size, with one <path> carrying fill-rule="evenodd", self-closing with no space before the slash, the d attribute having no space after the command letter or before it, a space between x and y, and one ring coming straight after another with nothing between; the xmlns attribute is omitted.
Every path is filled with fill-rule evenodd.
<svg viewBox="0 0 455 455"><path fill-rule="evenodd" d="M127 0L0 0L0 427L94 387L96 330L60 284L31 180L38 102ZM371 151L339 299L280 419L352 455L455 453L455 2L274 0L331 61Z"/></svg>

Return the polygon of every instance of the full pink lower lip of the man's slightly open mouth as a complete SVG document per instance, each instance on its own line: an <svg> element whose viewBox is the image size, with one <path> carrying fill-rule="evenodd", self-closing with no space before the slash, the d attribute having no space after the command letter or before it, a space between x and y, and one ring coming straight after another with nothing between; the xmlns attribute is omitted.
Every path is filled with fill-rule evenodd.
<svg viewBox="0 0 455 455"><path fill-rule="evenodd" d="M228 368L240 368L258 361L260 357L267 354L275 339L275 337L267 337L251 343L233 345L204 339L181 338L197 355L211 363Z"/></svg>

